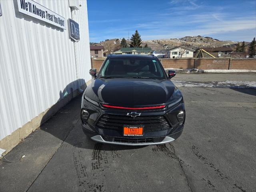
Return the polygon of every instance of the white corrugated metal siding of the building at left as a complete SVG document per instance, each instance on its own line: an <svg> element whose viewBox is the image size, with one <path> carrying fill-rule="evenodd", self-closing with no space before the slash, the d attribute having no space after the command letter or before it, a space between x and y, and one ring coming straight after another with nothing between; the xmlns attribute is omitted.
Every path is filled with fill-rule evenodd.
<svg viewBox="0 0 256 192"><path fill-rule="evenodd" d="M72 17L68 0L37 2L64 16L66 25ZM79 86L91 79L87 7L81 2L75 54L68 30L19 13L16 0L0 0L0 140L76 90L77 78Z"/></svg>

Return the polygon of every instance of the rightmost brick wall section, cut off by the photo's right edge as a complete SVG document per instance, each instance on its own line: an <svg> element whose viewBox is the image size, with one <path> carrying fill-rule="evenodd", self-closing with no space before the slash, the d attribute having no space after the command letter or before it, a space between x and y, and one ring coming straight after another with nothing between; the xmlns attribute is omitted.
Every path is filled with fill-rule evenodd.
<svg viewBox="0 0 256 192"><path fill-rule="evenodd" d="M256 59L232 59L229 69L256 70Z"/></svg>

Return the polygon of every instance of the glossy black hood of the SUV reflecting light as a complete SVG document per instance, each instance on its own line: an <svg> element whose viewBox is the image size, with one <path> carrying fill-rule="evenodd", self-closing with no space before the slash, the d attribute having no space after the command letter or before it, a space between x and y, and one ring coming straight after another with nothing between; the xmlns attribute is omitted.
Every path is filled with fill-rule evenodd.
<svg viewBox="0 0 256 192"><path fill-rule="evenodd" d="M176 91L170 80L95 79L86 88L86 97L116 106L150 106L165 104Z"/></svg>

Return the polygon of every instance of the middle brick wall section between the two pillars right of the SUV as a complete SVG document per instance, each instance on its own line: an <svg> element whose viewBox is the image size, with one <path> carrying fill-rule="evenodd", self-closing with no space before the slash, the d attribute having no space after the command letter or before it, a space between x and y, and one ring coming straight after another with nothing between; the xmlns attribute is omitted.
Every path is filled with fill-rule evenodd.
<svg viewBox="0 0 256 192"><path fill-rule="evenodd" d="M229 58L200 58L196 59L196 69L228 69Z"/></svg>

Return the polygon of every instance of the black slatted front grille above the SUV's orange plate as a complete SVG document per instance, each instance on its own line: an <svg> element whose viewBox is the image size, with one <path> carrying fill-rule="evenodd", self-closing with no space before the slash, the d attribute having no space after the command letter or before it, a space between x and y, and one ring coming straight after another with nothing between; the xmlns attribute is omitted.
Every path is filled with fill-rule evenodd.
<svg viewBox="0 0 256 192"><path fill-rule="evenodd" d="M164 116L121 116L103 115L97 123L99 128L122 130L124 125L144 125L144 132L165 130L170 128Z"/></svg>

